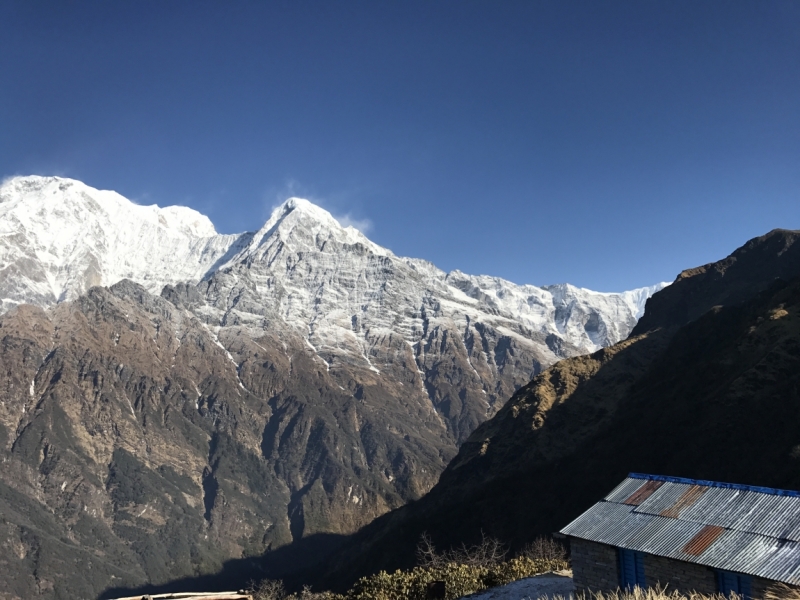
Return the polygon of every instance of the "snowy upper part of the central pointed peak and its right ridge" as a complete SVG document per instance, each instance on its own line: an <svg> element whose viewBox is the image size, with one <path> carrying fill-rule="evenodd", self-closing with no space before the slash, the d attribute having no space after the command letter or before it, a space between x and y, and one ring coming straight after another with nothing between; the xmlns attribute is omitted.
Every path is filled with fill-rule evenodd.
<svg viewBox="0 0 800 600"><path fill-rule="evenodd" d="M465 343L486 346L482 324L536 346L542 364L551 364L626 337L647 298L666 285L610 294L448 274L427 261L395 256L297 198L275 209L211 279L209 300L217 312L210 321L255 324L274 314L326 361L360 355L373 368L368 357L388 335L415 347L442 327L459 332Z"/></svg>

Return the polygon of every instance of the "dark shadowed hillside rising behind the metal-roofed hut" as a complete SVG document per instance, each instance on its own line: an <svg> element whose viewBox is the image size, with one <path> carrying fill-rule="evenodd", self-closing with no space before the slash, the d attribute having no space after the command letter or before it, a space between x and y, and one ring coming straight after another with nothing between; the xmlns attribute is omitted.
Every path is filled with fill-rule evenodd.
<svg viewBox="0 0 800 600"><path fill-rule="evenodd" d="M423 531L522 544L631 471L800 489L799 241L776 230L684 271L627 340L536 376L428 495L354 536L328 583L410 564Z"/></svg>

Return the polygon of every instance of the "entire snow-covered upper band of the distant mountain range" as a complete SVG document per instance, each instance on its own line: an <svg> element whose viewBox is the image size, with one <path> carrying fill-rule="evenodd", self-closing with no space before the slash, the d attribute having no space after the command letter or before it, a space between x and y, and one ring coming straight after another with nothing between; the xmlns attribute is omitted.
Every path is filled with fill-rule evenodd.
<svg viewBox="0 0 800 600"><path fill-rule="evenodd" d="M125 278L156 294L205 280L210 324L277 316L325 360L358 356L375 370L370 353L386 336L413 347L437 328L481 341L485 353L481 327L491 324L501 337L536 345L543 364L591 352L627 336L666 285L609 294L448 274L395 256L299 198L256 233L220 235L192 209L140 206L70 179L16 177L0 187L3 310L49 306Z"/></svg>

